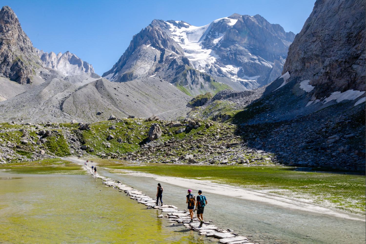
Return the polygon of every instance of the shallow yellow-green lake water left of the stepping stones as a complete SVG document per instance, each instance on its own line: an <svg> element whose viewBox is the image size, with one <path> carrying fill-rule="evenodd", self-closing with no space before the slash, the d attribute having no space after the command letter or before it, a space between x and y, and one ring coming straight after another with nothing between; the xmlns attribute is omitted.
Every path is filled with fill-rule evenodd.
<svg viewBox="0 0 366 244"><path fill-rule="evenodd" d="M0 172L0 243L210 242L159 214L90 175Z"/></svg>

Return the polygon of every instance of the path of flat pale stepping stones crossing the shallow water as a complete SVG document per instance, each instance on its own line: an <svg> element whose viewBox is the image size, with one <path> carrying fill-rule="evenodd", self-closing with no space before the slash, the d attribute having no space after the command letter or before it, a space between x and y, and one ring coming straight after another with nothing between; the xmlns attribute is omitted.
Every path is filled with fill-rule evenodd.
<svg viewBox="0 0 366 244"><path fill-rule="evenodd" d="M194 217L193 222L190 222L191 218L189 217L189 213L186 210L178 210L178 208L174 205L167 205L164 204L163 206L155 206L156 199L150 198L143 194L141 191L129 187L128 185L122 184L120 181L106 178L101 176L100 174L96 173L91 170L89 166L85 166L86 170L93 176L93 178L98 178L102 180L102 184L105 184L106 187L113 187L120 192L125 192L131 199L136 200L138 203L144 204L147 206L148 209L158 209L161 210L162 213L168 212L167 215L160 214L159 218L169 218L171 221L169 222L176 222L179 224L183 224L188 229L192 229L197 231L200 235L205 235L208 237L213 237L219 239L219 243L224 244L253 244L244 237L238 236L232 230L224 230L220 229L219 227L212 225L210 223L204 222L201 224L196 217ZM173 224L174 225L174 224Z"/></svg>

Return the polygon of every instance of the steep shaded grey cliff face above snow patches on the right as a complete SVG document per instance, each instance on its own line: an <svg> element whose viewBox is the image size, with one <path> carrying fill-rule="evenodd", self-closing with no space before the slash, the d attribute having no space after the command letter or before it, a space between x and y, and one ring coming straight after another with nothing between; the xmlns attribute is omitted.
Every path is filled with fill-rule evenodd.
<svg viewBox="0 0 366 244"><path fill-rule="evenodd" d="M365 91L365 1L317 0L290 45L282 74L310 80L314 98Z"/></svg>

